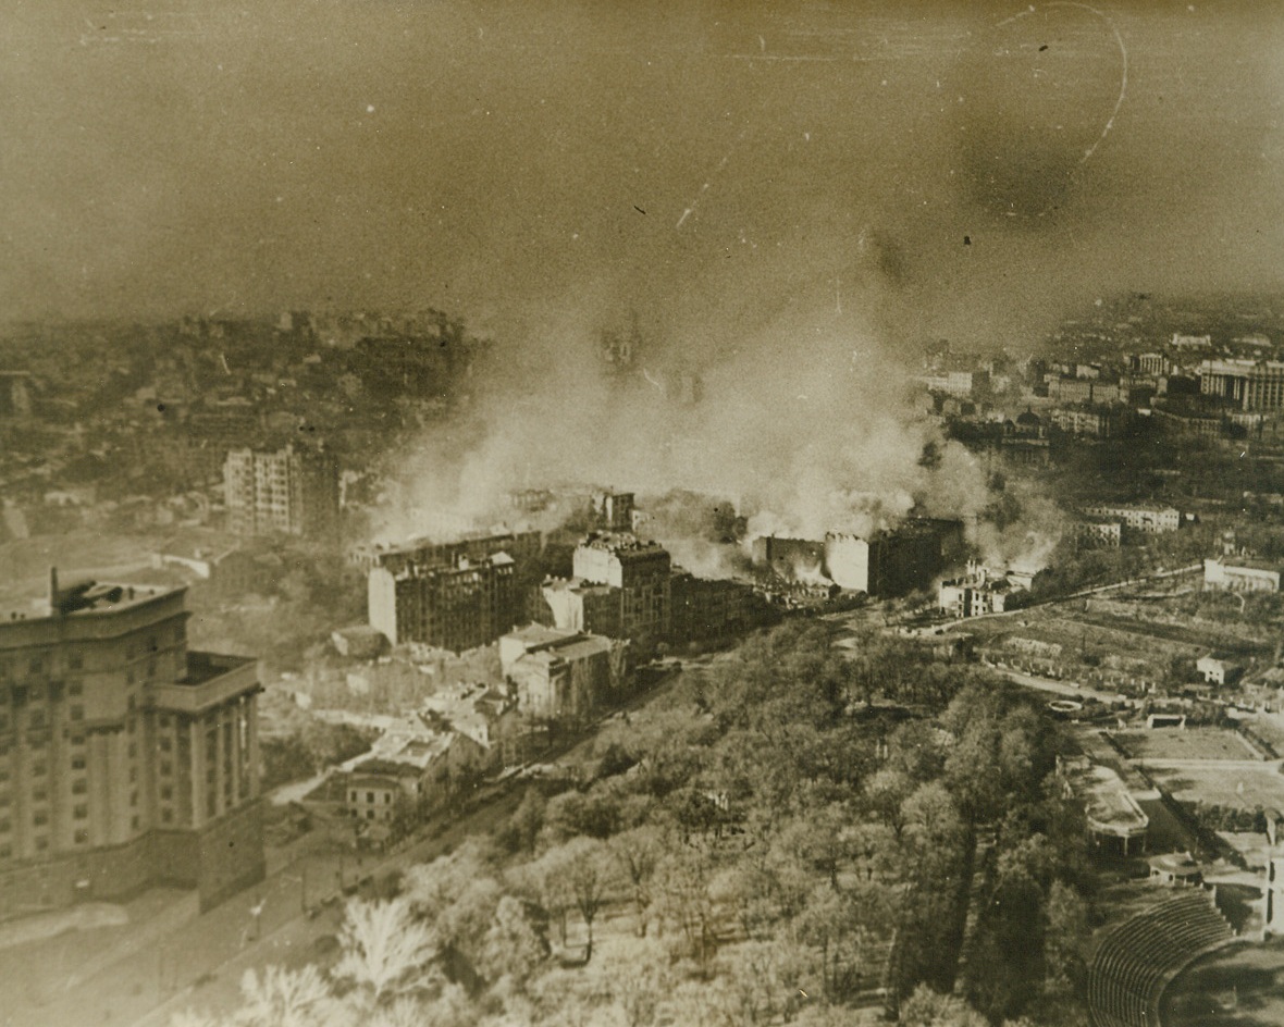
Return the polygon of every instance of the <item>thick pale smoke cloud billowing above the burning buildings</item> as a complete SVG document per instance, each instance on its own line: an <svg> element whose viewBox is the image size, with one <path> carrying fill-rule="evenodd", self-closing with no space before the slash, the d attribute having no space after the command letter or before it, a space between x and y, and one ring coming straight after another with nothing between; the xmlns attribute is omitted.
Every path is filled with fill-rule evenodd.
<svg viewBox="0 0 1284 1027"><path fill-rule="evenodd" d="M606 311L499 340L501 366L473 420L429 433L401 461L403 499L384 533L430 531L443 512L478 526L511 521L514 490L568 483L727 497L749 537L868 533L910 510L975 517L985 472L907 402L903 348L850 302L840 315L810 300L731 345L725 330L720 344L698 330L664 345L643 332L624 371L600 352ZM698 399L663 388L675 365L698 374ZM679 556L710 562L700 547Z"/></svg>

